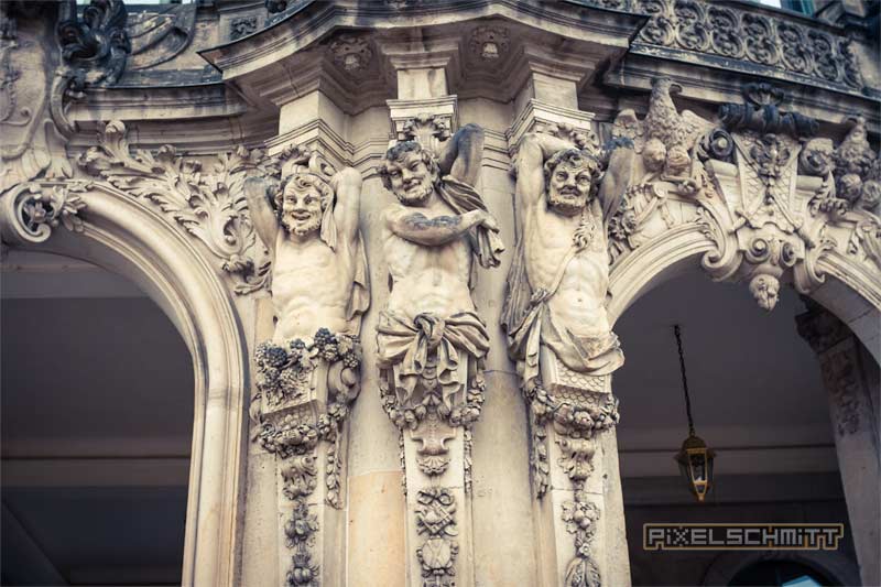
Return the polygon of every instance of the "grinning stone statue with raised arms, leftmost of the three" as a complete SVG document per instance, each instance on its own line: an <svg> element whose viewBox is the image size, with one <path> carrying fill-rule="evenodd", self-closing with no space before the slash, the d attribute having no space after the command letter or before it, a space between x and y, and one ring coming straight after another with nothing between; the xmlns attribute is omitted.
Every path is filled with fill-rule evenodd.
<svg viewBox="0 0 881 587"><path fill-rule="evenodd" d="M357 335L370 303L358 231L361 175L351 167L331 174L317 153L292 159L274 193L260 178L246 183L254 228L272 258L273 340L311 338L320 328Z"/></svg>

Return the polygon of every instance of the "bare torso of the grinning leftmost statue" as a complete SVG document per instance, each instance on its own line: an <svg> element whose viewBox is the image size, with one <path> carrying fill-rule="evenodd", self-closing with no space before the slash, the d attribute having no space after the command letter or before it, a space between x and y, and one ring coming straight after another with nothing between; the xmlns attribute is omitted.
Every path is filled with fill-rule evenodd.
<svg viewBox="0 0 881 587"><path fill-rule="evenodd" d="M279 231L272 274L276 343L312 338L319 328L356 334L346 319L355 256L350 243L339 240L334 251L317 235L295 242Z"/></svg>

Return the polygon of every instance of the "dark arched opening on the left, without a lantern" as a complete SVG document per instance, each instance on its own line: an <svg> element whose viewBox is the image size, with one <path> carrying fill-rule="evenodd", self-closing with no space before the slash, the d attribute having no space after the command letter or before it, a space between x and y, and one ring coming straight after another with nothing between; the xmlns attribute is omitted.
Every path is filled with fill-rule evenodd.
<svg viewBox="0 0 881 587"><path fill-rule="evenodd" d="M4 585L180 585L189 351L90 263L12 250L0 289Z"/></svg>

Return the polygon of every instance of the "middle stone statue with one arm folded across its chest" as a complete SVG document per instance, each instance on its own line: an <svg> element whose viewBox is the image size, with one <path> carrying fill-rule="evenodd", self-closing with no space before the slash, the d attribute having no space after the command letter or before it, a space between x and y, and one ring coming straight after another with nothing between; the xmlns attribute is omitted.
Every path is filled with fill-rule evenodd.
<svg viewBox="0 0 881 587"><path fill-rule="evenodd" d="M454 426L479 415L489 335L471 300L475 262L497 267L503 250L472 187L482 142L482 130L467 124L439 153L404 141L380 166L398 204L383 217L392 291L379 319L379 365L384 406L401 428L427 412Z"/></svg>

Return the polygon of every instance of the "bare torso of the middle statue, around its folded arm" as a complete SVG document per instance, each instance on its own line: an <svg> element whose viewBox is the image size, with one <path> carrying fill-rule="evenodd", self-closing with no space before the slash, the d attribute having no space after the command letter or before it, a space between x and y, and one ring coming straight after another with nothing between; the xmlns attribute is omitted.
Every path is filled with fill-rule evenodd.
<svg viewBox="0 0 881 587"><path fill-rule="evenodd" d="M394 205L391 214L401 209L420 211L427 218L453 215L443 202L435 200L425 208ZM471 272L471 248L465 238L438 246L424 246L383 229L383 248L392 278L389 311L410 318L431 313L439 317L475 309L468 279Z"/></svg>

